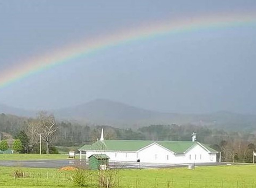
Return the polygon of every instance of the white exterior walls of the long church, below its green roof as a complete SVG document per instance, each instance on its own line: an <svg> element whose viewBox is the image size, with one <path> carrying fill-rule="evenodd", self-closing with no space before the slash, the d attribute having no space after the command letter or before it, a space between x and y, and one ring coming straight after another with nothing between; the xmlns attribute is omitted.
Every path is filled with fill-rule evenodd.
<svg viewBox="0 0 256 188"><path fill-rule="evenodd" d="M214 163L216 153L208 153L200 145L190 148L184 154L174 154L172 151L159 146L157 143L149 145L138 152L136 151L86 151L88 159L92 154L106 154L109 161L136 162L140 159L141 163Z"/></svg>

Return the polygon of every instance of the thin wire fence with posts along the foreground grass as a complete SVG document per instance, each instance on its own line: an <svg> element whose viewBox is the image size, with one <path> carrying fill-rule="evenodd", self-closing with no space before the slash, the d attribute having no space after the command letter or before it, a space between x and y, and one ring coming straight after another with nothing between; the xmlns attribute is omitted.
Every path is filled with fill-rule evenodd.
<svg viewBox="0 0 256 188"><path fill-rule="evenodd" d="M46 172L13 172L11 175L15 186L67 186L73 187L72 172L46 171ZM164 180L161 178L134 178L126 176L116 176L116 188L256 188L254 180L214 180L209 179L189 179L171 178ZM88 187L99 187L97 171L88 176L86 180ZM0 181L1 185L1 181Z"/></svg>

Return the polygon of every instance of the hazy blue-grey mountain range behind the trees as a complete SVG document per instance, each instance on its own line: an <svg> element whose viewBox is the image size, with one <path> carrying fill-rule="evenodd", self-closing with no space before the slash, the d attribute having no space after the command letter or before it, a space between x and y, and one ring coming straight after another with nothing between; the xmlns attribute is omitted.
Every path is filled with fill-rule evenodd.
<svg viewBox="0 0 256 188"><path fill-rule="evenodd" d="M256 130L255 115L227 111L211 114L163 113L106 99L49 111L59 120L122 128L138 128L152 124L195 124L231 130ZM0 113L34 117L37 112L0 104Z"/></svg>

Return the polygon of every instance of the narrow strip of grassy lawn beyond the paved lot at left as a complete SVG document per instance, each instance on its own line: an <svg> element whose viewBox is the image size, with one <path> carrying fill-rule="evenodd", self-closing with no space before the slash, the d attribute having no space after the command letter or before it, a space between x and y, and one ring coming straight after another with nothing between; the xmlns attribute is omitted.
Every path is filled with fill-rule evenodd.
<svg viewBox="0 0 256 188"><path fill-rule="evenodd" d="M0 154L0 160L67 159L61 154Z"/></svg>

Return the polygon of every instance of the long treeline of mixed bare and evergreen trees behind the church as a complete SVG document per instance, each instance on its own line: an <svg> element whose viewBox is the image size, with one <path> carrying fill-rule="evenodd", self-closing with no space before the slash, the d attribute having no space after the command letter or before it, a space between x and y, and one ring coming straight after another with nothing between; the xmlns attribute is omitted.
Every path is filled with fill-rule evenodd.
<svg viewBox="0 0 256 188"><path fill-rule="evenodd" d="M188 125L151 125L138 130L110 126L88 126L79 123L56 121L47 112L40 112L37 118L24 118L0 114L0 133L8 133L21 140L20 152L37 152L42 136L43 152L57 152L54 146L82 146L97 141L104 128L105 139L127 140L173 140L190 141L191 133L197 133L197 141L220 151L222 161L252 162L256 136L249 132L235 132L214 127Z"/></svg>

